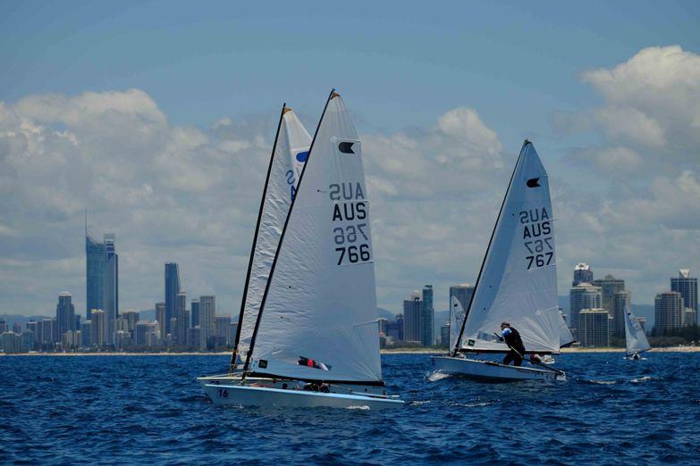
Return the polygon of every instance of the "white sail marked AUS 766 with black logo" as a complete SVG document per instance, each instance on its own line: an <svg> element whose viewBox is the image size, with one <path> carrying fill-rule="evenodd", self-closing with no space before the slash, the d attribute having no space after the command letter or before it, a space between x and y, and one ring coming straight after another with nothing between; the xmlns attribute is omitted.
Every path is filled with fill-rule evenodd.
<svg viewBox="0 0 700 466"><path fill-rule="evenodd" d="M382 379L375 266L361 144L333 94L268 283L249 371L293 379Z"/></svg>

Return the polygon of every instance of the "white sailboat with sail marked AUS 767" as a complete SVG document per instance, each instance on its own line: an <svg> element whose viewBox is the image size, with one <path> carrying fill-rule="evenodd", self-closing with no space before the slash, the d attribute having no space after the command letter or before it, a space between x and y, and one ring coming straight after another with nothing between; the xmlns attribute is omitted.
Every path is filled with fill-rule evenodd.
<svg viewBox="0 0 700 466"><path fill-rule="evenodd" d="M508 345L494 334L502 321L519 330L526 354L559 354L563 338L553 220L547 172L526 140L460 332L451 341L451 354L431 358L435 370L488 380L566 380L563 371L539 362L533 362L537 368L519 367L466 356L508 353Z"/></svg>

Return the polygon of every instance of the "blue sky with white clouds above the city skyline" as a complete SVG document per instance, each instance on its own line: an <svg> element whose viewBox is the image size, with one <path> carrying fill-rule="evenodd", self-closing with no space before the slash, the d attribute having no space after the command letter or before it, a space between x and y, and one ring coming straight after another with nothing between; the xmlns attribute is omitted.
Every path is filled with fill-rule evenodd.
<svg viewBox="0 0 700 466"><path fill-rule="evenodd" d="M700 270L696 2L0 4L0 312L85 312L83 212L116 234L120 307L240 307L283 102L331 87L363 141L377 300L474 282L522 140L572 269L653 304Z"/></svg>

